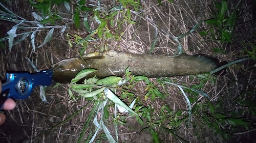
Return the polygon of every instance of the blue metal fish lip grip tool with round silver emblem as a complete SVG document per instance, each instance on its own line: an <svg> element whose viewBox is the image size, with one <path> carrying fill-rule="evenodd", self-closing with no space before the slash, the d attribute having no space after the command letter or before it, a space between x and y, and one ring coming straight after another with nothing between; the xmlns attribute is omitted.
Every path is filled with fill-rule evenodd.
<svg viewBox="0 0 256 143"><path fill-rule="evenodd" d="M49 86L52 82L52 70L38 73L15 72L6 74L6 82L3 83L0 94L0 109L5 101L12 97L14 99L26 99L37 85Z"/></svg>

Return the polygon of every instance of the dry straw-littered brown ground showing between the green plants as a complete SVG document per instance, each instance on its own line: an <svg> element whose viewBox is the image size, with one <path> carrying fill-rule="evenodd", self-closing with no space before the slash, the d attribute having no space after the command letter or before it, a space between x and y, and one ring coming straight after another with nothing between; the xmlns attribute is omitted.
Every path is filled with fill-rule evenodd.
<svg viewBox="0 0 256 143"><path fill-rule="evenodd" d="M90 1L89 3L96 3ZM237 1L228 1L230 9L234 8ZM255 23L253 23L253 10L251 1L243 2L239 15L241 15L236 31L233 34L232 41L229 43L221 43L219 41L207 40L200 36L199 32L209 28L206 23L202 23L197 31L189 34L188 36L180 39L183 50L187 54L206 54L217 58L222 61L232 62L241 59L240 55L243 50L241 41L255 41ZM20 17L28 20L34 20L31 12L35 11L31 8L27 1L11 1L3 2L9 10L19 15ZM108 1L102 1L102 5L110 5ZM203 20L212 18L214 13L213 1L185 1L174 0L173 3L162 1L161 6L157 1L141 1L143 10L141 15L132 14L132 20L136 24L123 23L122 25L122 39L120 41L94 41L88 45L86 53L98 51L94 47L103 47L108 43L108 49L119 50L130 53L149 53L151 45L154 41L156 31L158 38L153 50L153 54L176 54L178 43L173 37L177 37L191 30L195 24ZM59 12L65 12L65 7L57 7ZM60 21L59 25L65 24L65 21ZM13 22L0 21L0 36L6 36L10 28L15 25ZM95 23L91 23L91 28L96 28ZM18 32L22 32L19 30ZM11 51L6 48L0 48L0 77L5 80L7 71L29 71L35 72L28 62L29 58L39 70L49 69L51 64L60 60L68 59L78 56L81 47L70 48L67 38L62 38L59 34L60 30L55 31L54 38L47 43L47 45L37 48L33 51L30 39L27 38L23 42L14 45ZM88 34L86 30L77 30L74 25L70 25L66 34L74 35ZM46 32L39 32L36 35L37 45L44 42ZM105 42L105 43L104 43ZM5 43L8 47L8 42ZM226 54L216 53L214 48L223 48ZM255 96L255 85L248 85L250 81L255 79L255 61L246 61L240 65L231 66L227 69L224 76L218 76L217 82L212 85L206 82L203 92L212 97L212 104L217 105L222 103L223 111L228 112L242 108L234 104L232 101L239 97L244 96L245 100L252 100ZM65 78L65 75L63 75ZM156 82L156 78L151 81ZM186 85L197 84L200 81L191 76L170 77L174 83L186 83ZM76 142L79 138L79 133L82 132L84 122L93 107L93 104L85 108L82 112L72 120L65 124L53 129L50 132L44 133L46 130L57 125L61 121L72 116L74 112L86 105L89 101L80 99L75 102L68 94L68 84L60 84L53 88L56 82L53 81L52 85L46 89L46 97L49 103L41 101L39 95L39 88L35 88L32 95L26 100L17 100L16 108L7 111L7 121L0 126L0 142ZM156 82L157 84L157 82ZM158 85L166 96L164 100L157 98L155 101L143 100L143 93L145 85L139 82L134 89L142 95L140 103L144 106L151 105L156 110L161 108L162 105L167 105L177 110L187 110L185 99L177 87L165 85L164 88ZM245 90L254 91L253 96L242 94ZM220 102L221 101L221 102ZM204 97L198 97L199 103L205 103L207 100ZM113 111L113 106L109 108ZM154 142L152 135L148 131L142 131L146 128L147 124L142 126L139 124L135 117L126 117L125 125L118 125L119 142ZM186 123L182 123L179 130L175 133L187 140L188 142L224 142L224 140L216 135L212 129L207 128L200 123L197 116L193 117L193 123L187 127ZM201 118L201 117L200 117ZM111 124L112 118L110 117L106 124L109 125L110 131L113 133L114 127ZM254 119L252 119L254 120ZM159 137L162 142L182 142L172 134L165 133L158 130ZM87 132L88 133L88 132ZM236 135L231 138L230 142L253 142L256 138L253 136L255 131ZM83 138L87 138L86 134ZM101 131L95 142L108 142L105 140L103 131Z"/></svg>

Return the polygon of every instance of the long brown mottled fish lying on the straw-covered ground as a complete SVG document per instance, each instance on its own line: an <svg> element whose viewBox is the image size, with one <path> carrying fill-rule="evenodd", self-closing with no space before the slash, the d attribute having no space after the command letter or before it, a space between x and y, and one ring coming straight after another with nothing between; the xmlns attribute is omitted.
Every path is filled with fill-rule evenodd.
<svg viewBox="0 0 256 143"><path fill-rule="evenodd" d="M76 74L86 68L96 69L86 78L104 78L111 75L122 77L125 69L130 67L132 75L147 77L172 77L209 73L218 68L218 60L206 55L152 55L106 51L62 60L52 65L53 80L68 83Z"/></svg>

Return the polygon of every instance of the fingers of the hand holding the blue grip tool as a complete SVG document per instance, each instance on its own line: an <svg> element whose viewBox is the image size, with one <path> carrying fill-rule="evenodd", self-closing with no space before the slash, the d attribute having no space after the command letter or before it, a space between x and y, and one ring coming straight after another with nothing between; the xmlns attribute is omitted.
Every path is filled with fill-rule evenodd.
<svg viewBox="0 0 256 143"><path fill-rule="evenodd" d="M1 92L2 92L2 82L0 80L0 93ZM15 108L15 106L16 106L15 101L11 98L8 98L4 103L3 109L4 110L12 110ZM2 125L5 122L5 119L6 119L6 117L5 117L4 113L0 113L0 125Z"/></svg>

